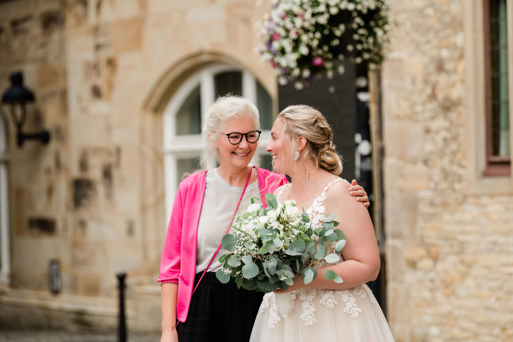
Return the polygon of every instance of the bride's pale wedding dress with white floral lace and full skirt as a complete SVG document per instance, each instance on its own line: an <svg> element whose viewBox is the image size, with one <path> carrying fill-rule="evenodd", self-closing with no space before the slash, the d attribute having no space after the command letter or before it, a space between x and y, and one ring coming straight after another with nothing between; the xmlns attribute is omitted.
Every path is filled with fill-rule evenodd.
<svg viewBox="0 0 513 342"><path fill-rule="evenodd" d="M312 229L322 226L327 217L323 201L328 188L338 180L346 181L337 178L328 184L306 211ZM278 200L287 186L278 191ZM333 251L334 242L326 254ZM288 294L293 309L285 317L278 311L274 292L264 295L250 342L393 342L385 316L365 284L346 290L300 289Z"/></svg>

